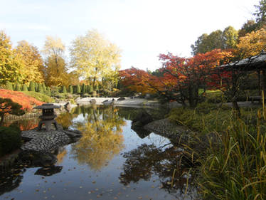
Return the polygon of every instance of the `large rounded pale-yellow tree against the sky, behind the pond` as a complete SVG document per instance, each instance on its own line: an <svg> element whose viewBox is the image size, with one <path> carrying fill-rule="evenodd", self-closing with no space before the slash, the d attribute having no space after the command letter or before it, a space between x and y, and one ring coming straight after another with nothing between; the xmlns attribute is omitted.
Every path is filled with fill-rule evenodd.
<svg viewBox="0 0 266 200"><path fill-rule="evenodd" d="M88 31L85 36L78 36L70 48L71 66L80 76L96 81L102 80L120 68L120 50L107 41L97 31Z"/></svg>

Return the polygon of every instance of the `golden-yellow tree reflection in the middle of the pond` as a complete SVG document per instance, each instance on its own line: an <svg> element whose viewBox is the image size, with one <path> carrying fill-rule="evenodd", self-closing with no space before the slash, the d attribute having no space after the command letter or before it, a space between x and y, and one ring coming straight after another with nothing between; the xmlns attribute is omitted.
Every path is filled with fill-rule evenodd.
<svg viewBox="0 0 266 200"><path fill-rule="evenodd" d="M73 144L71 154L80 164L87 164L97 171L124 148L122 126L125 124L115 107L78 107L83 112L83 122L75 128L83 137ZM86 114L85 114L86 113Z"/></svg>

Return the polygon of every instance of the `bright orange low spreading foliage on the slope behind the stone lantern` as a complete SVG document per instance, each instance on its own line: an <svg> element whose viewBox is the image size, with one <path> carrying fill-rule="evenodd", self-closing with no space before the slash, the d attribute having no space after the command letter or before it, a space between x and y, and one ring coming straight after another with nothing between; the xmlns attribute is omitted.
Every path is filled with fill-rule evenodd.
<svg viewBox="0 0 266 200"><path fill-rule="evenodd" d="M26 111L31 111L33 106L42 105L44 102L36 100L24 93L0 89L0 98L9 98L13 102L17 102L21 105L21 108Z"/></svg>

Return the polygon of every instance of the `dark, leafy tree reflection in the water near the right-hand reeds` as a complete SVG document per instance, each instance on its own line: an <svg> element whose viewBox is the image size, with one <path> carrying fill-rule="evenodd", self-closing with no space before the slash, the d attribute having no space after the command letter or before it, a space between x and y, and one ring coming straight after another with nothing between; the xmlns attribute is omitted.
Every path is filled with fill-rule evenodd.
<svg viewBox="0 0 266 200"><path fill-rule="evenodd" d="M124 172L120 174L119 179L125 186L142 179L149 181L152 175L156 174L160 178L161 188L169 193L186 190L187 172L193 167L193 163L184 157L180 148L162 149L154 144L142 144L137 149L124 153L124 158L127 160L123 164Z"/></svg>

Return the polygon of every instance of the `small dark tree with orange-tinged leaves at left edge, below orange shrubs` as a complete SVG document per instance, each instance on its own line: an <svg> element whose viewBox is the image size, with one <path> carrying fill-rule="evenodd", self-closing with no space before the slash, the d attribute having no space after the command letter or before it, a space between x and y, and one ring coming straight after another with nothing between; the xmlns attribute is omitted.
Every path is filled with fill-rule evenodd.
<svg viewBox="0 0 266 200"><path fill-rule="evenodd" d="M0 126L3 125L5 115L23 115L22 106L9 98L0 98Z"/></svg>

